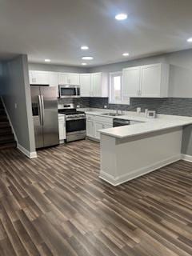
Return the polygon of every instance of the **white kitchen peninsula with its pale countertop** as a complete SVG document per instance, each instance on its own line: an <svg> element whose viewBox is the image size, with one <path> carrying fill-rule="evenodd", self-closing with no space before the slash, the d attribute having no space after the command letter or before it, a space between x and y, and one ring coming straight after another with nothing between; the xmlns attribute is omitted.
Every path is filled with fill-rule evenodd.
<svg viewBox="0 0 192 256"><path fill-rule="evenodd" d="M131 114L121 118L133 119ZM158 115L142 120L146 122L100 130L99 177L113 186L182 158L182 128L192 124L192 118Z"/></svg>

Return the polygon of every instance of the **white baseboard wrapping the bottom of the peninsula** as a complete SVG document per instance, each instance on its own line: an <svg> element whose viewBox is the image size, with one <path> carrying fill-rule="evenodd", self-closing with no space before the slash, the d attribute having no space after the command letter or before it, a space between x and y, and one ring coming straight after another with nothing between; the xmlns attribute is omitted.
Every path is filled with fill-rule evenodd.
<svg viewBox="0 0 192 256"><path fill-rule="evenodd" d="M171 158L167 158L161 162L156 162L151 166L146 166L146 167L140 168L138 170L134 170L129 174L122 174L118 177L113 177L112 175L107 174L106 172L101 170L99 178L102 178L104 181L110 183L113 186L118 186L122 183L130 181L131 179L138 178L144 174L149 174L150 172L152 172L154 170L158 170L158 169L162 168L163 166L167 166L170 163L176 162L178 160L181 160L181 154L178 154L177 156L174 156Z"/></svg>

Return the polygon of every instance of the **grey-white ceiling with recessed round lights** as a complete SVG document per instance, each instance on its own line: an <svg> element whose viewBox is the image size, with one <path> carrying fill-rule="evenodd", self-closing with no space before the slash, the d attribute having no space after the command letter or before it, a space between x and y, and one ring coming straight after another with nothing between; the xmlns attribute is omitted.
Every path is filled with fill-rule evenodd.
<svg viewBox="0 0 192 256"><path fill-rule="evenodd" d="M191 0L0 0L0 59L81 66L92 55L98 66L188 49L191 10ZM114 19L120 12L126 21Z"/></svg>

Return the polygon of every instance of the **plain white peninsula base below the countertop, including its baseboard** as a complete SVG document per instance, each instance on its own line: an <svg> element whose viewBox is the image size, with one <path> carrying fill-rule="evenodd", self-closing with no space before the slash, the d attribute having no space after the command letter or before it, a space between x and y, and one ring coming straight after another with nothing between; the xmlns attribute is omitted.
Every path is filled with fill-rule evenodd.
<svg viewBox="0 0 192 256"><path fill-rule="evenodd" d="M127 138L101 134L100 178L113 186L181 159L182 127Z"/></svg>

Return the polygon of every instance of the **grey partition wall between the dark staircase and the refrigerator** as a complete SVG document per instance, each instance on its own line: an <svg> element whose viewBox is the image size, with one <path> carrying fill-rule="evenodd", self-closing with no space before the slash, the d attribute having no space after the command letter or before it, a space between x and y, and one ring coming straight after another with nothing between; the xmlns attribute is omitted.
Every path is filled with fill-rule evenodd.
<svg viewBox="0 0 192 256"><path fill-rule="evenodd" d="M2 98L18 138L18 144L27 151L34 152L34 123L27 56L20 55L9 62L4 62L2 69Z"/></svg>

